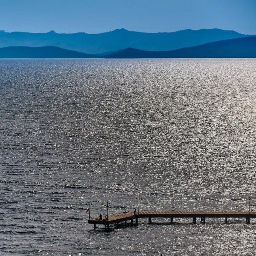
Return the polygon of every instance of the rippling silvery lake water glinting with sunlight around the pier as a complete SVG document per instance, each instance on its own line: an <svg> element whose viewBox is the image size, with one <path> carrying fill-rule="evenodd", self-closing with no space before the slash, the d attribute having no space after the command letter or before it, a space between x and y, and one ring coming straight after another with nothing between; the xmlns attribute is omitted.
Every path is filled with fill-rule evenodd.
<svg viewBox="0 0 256 256"><path fill-rule="evenodd" d="M256 255L256 59L0 60L0 255ZM203 232L201 232L203 230Z"/></svg>

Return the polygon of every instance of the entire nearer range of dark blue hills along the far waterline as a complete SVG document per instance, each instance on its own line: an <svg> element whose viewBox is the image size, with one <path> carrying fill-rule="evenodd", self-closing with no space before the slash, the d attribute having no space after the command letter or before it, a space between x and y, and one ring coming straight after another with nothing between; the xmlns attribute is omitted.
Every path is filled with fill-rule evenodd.
<svg viewBox="0 0 256 256"><path fill-rule="evenodd" d="M0 58L256 58L256 36L211 42L172 51L152 52L127 48L98 56L56 46L0 48Z"/></svg>

